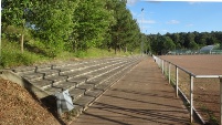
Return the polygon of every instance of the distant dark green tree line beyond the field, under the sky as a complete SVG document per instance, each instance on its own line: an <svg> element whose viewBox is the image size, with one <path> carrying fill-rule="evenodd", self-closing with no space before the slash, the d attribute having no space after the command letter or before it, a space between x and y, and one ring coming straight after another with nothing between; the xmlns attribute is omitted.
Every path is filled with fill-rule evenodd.
<svg viewBox="0 0 222 125"><path fill-rule="evenodd" d="M166 33L161 35L149 34L146 35L146 44L148 51L156 54L166 54L175 50L199 50L205 45L218 44L222 50L222 32L180 32L180 33Z"/></svg>

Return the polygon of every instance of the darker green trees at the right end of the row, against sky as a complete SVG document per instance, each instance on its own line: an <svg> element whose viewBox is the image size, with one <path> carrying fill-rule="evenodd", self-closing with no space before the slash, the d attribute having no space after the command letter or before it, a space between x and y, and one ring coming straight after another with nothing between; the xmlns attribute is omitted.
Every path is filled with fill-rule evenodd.
<svg viewBox="0 0 222 125"><path fill-rule="evenodd" d="M116 24L112 27L112 46L115 49L115 53L117 50L133 49L131 44L138 46L138 39L141 39L141 34L136 20L126 9L126 0L114 0L113 3Z"/></svg>

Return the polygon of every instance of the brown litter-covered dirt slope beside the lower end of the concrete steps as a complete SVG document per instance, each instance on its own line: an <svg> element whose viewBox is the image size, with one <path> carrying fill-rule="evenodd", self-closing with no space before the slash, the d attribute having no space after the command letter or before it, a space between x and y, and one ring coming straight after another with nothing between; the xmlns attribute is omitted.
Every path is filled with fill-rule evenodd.
<svg viewBox="0 0 222 125"><path fill-rule="evenodd" d="M60 125L22 86L0 79L0 125Z"/></svg>

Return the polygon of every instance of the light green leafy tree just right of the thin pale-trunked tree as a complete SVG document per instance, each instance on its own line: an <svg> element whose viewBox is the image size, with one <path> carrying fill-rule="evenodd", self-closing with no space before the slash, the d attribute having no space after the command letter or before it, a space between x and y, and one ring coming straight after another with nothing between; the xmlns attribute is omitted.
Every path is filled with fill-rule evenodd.
<svg viewBox="0 0 222 125"><path fill-rule="evenodd" d="M55 56L64 49L64 41L68 40L73 30L73 11L77 1L35 1L30 27L33 29L35 37L43 41L46 48L50 48L50 56Z"/></svg>

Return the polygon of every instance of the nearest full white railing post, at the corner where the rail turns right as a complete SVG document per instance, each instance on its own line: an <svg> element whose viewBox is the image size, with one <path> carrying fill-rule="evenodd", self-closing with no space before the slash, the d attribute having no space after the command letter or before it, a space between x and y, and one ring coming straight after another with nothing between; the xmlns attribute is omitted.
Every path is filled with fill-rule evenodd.
<svg viewBox="0 0 222 125"><path fill-rule="evenodd" d="M190 74L190 123L193 121L193 76Z"/></svg>

